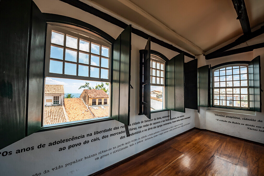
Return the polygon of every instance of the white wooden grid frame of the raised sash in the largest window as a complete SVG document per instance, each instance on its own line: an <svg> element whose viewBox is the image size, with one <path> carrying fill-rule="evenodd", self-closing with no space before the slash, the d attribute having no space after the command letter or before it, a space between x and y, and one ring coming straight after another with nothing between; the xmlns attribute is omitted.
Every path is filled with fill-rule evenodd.
<svg viewBox="0 0 264 176"><path fill-rule="evenodd" d="M53 30L64 34L64 45L63 46L51 43L51 33L52 33ZM74 31L74 32L72 32L72 31ZM79 33L77 33L77 32L79 32ZM86 36L84 34L86 34ZM46 37L46 54L45 54L45 77L58 77L58 78L89 80L89 81L111 82L111 44L106 43L102 39L97 38L96 36L93 36L92 34L89 34L89 33L84 33L84 34L81 33L81 31L74 30L74 29L71 29L71 28L48 24L48 26L47 26L47 37ZM66 36L67 35L70 35L70 36L73 36L75 38L78 38L78 40L77 40L77 49L66 47ZM96 38L96 39L94 39L94 38ZM89 52L85 52L85 51L79 50L79 40L80 39L83 39L83 40L86 40L86 41L89 42ZM91 43L100 45L100 52L99 52L100 54L99 55L91 53ZM50 58L50 47L51 47L51 45L63 48L63 59ZM109 48L109 57L105 57L105 56L101 55L101 48L102 48L101 46ZM77 61L76 62L65 61L65 50L66 49L77 51ZM79 60L79 54L78 53L79 52L89 54L89 64L78 63L78 60ZM99 57L99 66L91 65L91 55L95 55L95 56ZM108 59L109 68L101 67L101 58ZM62 74L50 73L49 72L50 60L63 62L63 72L62 72ZM64 74L65 63L77 64L76 65L76 75L65 75ZM79 65L83 65L83 66L88 66L89 67L88 77L86 77L86 76L78 76L78 67L79 67ZM99 78L90 77L91 76L90 75L91 67L99 68ZM101 69L108 69L108 79L100 78L101 77Z"/></svg>

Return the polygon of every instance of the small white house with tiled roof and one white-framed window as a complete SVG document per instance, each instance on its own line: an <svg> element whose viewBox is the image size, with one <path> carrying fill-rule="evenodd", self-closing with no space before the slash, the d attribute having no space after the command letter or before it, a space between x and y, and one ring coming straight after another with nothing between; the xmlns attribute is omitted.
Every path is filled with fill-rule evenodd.
<svg viewBox="0 0 264 176"><path fill-rule="evenodd" d="M64 86L45 84L44 105L64 105Z"/></svg>

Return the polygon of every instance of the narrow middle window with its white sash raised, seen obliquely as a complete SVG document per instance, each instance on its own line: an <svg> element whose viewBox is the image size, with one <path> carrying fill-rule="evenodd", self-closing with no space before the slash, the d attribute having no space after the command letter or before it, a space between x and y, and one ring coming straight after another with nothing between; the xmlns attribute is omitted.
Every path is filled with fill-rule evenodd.
<svg viewBox="0 0 264 176"><path fill-rule="evenodd" d="M156 55L151 55L150 82L151 110L165 109L165 61Z"/></svg>

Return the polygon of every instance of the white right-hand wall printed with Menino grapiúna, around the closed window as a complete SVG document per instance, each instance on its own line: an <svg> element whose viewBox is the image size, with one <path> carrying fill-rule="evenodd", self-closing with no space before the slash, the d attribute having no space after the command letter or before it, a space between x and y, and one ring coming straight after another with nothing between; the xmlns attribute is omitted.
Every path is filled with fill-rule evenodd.
<svg viewBox="0 0 264 176"><path fill-rule="evenodd" d="M262 41L263 40L264 36L262 37ZM262 67L261 84L264 85L264 48L255 49L252 52L234 54L210 60L206 60L204 56L199 55L198 67L204 66L206 64L215 66L220 63L230 61L251 61L258 55L260 55ZM216 131L235 137L264 143L264 93L261 94L261 99L262 113L245 110L200 107L199 113L195 115L195 127L201 129L209 129L211 131ZM229 116L237 117L240 119L230 118ZM244 119L254 119L256 121L249 121Z"/></svg>

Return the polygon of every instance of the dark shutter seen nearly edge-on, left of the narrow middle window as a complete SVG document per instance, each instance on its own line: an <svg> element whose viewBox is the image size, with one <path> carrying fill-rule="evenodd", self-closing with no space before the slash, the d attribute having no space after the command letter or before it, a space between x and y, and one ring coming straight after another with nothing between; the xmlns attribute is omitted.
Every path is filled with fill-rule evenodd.
<svg viewBox="0 0 264 176"><path fill-rule="evenodd" d="M143 114L150 119L150 37L143 54Z"/></svg>

